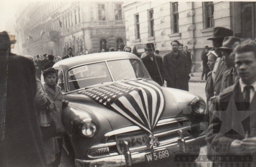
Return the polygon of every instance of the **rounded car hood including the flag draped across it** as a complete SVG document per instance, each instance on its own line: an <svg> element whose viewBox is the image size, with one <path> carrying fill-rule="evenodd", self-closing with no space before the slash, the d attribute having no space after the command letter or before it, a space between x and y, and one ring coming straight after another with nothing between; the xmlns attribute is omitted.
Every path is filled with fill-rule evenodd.
<svg viewBox="0 0 256 167"><path fill-rule="evenodd" d="M98 86L96 88L75 92L70 94L67 100L70 101L71 105L72 105L72 101L74 101L75 103L79 103L79 105L76 105L76 106L77 107L81 106L81 109L83 108L83 110L85 110L91 116L92 119L99 119L99 117L101 116L101 119L98 121L99 122L108 121L110 123L112 130L130 126L130 125L138 125L142 128L146 127L148 130L150 130L150 128L154 127L157 121L165 118L176 117L180 113L181 109L184 106L186 107L187 103L189 103L195 97L194 95L186 91L160 87L158 84L156 84L153 81L144 80L144 81L141 81L140 83L143 83L143 82L147 84L147 86L150 86L152 88L150 90L151 92L150 91L147 92L147 95L155 96L154 98L156 101L143 100L143 98L145 97L143 97L143 93L141 94L142 85L139 85L139 84L136 85L135 82L129 82L129 81L123 82L119 85L116 85L116 83L111 83L107 86L106 85ZM118 99L115 99L115 102L111 103L112 99L111 98L109 99L110 96L113 97L113 94L111 93L118 94L118 92L124 92L123 90L127 90L127 88L125 87L118 88L118 87L120 85L127 86L128 84L133 84L133 86L136 88L133 89L132 91L128 91L128 94L122 94L115 97ZM102 91L105 91L106 88L111 88L111 86L113 86L112 92L110 89L111 95L107 94L106 96L108 97L104 97L104 94L106 93ZM118 91L113 92L113 90L118 90ZM136 91L134 92L134 90L137 90L138 93L136 93ZM99 95L99 92L103 94ZM132 94L131 92L133 92L134 94ZM132 94L132 96L130 94ZM122 98L122 97L126 97L126 98ZM130 100L130 101L127 100L129 98L133 100ZM149 115L147 115L148 113L146 113L146 116L145 116L145 113L141 112L140 107L138 105L138 103L141 102L140 100L145 102L145 104L143 104L140 107L145 108L145 106L147 106L147 108L151 108L153 110L151 115L150 113ZM84 107L84 105L82 104L86 104L86 107ZM155 106L153 107L154 104ZM137 110L137 112L135 109ZM139 113L140 115L138 115L137 113ZM144 116L149 119L148 120L145 119Z"/></svg>

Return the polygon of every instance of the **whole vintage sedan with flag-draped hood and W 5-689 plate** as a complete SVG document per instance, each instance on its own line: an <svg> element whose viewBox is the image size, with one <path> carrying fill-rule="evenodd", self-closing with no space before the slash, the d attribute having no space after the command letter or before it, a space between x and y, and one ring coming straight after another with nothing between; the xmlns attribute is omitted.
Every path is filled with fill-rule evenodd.
<svg viewBox="0 0 256 167"><path fill-rule="evenodd" d="M161 87L140 58L128 52L95 53L57 62L64 148L76 167L132 166L199 154L205 145L205 102Z"/></svg>

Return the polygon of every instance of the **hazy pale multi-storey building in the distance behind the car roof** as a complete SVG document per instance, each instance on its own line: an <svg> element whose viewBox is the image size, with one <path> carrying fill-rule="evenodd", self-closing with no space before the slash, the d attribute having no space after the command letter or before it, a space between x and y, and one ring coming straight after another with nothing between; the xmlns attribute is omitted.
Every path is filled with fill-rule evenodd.
<svg viewBox="0 0 256 167"><path fill-rule="evenodd" d="M23 54L66 55L101 51L102 42L126 44L123 2L31 2L17 17Z"/></svg>

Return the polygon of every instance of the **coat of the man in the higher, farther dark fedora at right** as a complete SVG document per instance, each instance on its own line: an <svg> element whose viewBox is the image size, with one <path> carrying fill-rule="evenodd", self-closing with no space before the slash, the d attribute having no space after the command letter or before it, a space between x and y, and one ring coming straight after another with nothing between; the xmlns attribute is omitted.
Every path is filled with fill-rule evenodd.
<svg viewBox="0 0 256 167"><path fill-rule="evenodd" d="M220 69L216 74L215 81L213 82L213 88L216 96L220 93L222 76L227 70L229 70L229 67L227 67L226 64L221 64Z"/></svg>

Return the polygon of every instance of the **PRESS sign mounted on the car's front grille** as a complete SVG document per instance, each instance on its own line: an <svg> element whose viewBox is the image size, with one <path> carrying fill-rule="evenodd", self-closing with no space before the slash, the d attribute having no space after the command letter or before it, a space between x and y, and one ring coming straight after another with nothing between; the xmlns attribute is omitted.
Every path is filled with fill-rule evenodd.
<svg viewBox="0 0 256 167"><path fill-rule="evenodd" d="M139 148L139 147L146 146L147 140L148 140L148 135L141 132L116 135L116 143L117 143L117 148L119 150L119 153L122 152L122 147L124 145L124 142L128 143L129 149L132 149L132 148Z"/></svg>

